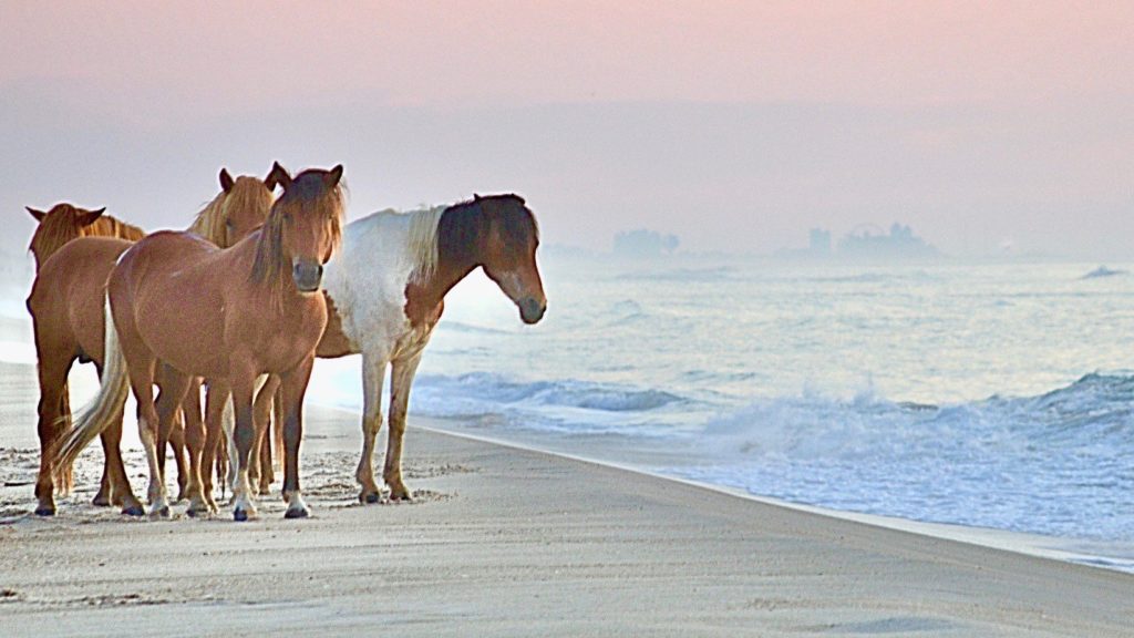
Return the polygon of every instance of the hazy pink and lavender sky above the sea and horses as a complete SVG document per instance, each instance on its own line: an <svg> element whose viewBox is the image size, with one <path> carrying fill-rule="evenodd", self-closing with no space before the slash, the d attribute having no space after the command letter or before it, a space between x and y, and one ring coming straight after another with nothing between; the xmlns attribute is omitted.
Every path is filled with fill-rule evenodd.
<svg viewBox="0 0 1134 638"><path fill-rule="evenodd" d="M516 191L545 241L911 224L1134 259L1132 2L0 3L0 204L187 225L221 166L350 215Z"/></svg>

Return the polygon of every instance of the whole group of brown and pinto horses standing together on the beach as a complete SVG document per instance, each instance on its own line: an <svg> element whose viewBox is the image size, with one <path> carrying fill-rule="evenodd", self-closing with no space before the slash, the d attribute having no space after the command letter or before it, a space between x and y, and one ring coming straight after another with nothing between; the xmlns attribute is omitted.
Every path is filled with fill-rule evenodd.
<svg viewBox="0 0 1134 638"><path fill-rule="evenodd" d="M170 515L171 447L189 515L219 511L212 477L227 468L221 480L231 484L234 518L255 517L255 496L272 480L274 414L285 517L307 517L298 471L304 394L316 356L348 354L362 354L358 497L381 500L373 456L389 368L382 477L390 500L409 500L401 478L409 388L446 293L480 268L524 322L547 310L539 228L518 195L345 224L341 165L293 176L277 162L262 181L221 169L220 185L185 232L146 235L105 209L28 208L39 221L27 299L40 381L36 514L56 513L56 489L73 488L71 467L95 438L104 464L94 504L146 513L120 452L133 393L151 515ZM67 376L75 361L94 363L100 388L73 415Z"/></svg>

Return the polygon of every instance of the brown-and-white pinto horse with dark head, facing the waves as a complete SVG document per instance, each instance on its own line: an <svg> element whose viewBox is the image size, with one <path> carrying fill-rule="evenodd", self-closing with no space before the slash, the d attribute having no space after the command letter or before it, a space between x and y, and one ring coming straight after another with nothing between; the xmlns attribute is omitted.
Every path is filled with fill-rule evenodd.
<svg viewBox="0 0 1134 638"><path fill-rule="evenodd" d="M445 295L481 268L525 324L547 311L535 263L535 216L515 194L474 195L445 209L378 212L347 225L342 251L327 265L330 319L318 356L362 354L363 446L358 498L376 503L372 457L382 427L382 381L390 367L390 431L382 472L390 500L411 500L401 480L409 388L445 309ZM359 284L364 282L364 284Z"/></svg>

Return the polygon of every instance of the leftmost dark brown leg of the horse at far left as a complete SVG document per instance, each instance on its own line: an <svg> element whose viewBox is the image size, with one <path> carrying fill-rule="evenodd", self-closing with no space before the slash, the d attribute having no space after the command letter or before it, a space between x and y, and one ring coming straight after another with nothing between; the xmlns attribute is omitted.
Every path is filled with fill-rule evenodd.
<svg viewBox="0 0 1134 638"><path fill-rule="evenodd" d="M74 356L62 352L48 351L40 347L40 404L39 425L40 435L40 473L35 479L35 513L41 517L51 517L56 513L54 481L52 473L54 465L51 456L62 435L70 412L62 412L68 405L67 396L67 371L70 369Z"/></svg>

